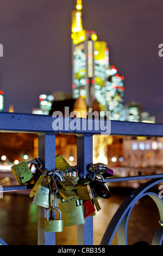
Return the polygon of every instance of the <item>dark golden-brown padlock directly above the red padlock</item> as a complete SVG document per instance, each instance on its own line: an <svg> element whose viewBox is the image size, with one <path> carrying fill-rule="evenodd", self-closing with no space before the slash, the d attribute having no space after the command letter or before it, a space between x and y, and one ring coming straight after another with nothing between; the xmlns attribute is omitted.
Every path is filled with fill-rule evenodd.
<svg viewBox="0 0 163 256"><path fill-rule="evenodd" d="M88 184L77 184L76 190L80 200L92 200L93 196Z"/></svg>

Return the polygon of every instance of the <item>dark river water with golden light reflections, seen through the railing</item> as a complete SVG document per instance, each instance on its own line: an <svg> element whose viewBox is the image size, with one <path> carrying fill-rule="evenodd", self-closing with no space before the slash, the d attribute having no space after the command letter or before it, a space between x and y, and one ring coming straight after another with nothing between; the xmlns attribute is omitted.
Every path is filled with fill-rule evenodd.
<svg viewBox="0 0 163 256"><path fill-rule="evenodd" d="M99 245L105 230L127 194L113 194L101 199L102 210L93 217L94 245ZM131 212L128 224L128 244L147 241L151 244L155 231L160 227L159 212L151 198L142 198ZM76 226L65 227L57 233L57 245L76 245ZM28 194L4 194L0 199L0 237L8 245L37 245L37 206ZM112 245L117 245L115 235Z"/></svg>

